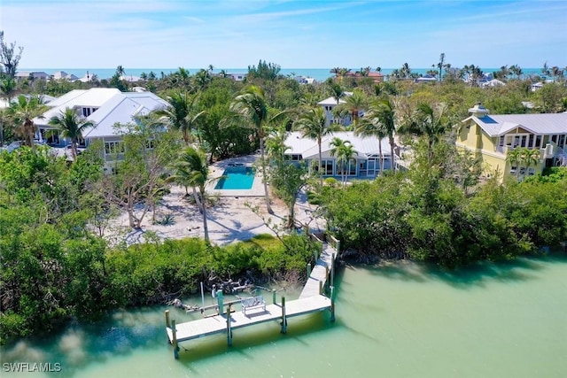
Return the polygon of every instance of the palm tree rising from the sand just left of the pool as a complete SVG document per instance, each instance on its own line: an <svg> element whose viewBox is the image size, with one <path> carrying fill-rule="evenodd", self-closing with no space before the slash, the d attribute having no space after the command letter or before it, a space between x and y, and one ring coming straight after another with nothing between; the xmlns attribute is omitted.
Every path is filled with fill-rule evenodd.
<svg viewBox="0 0 567 378"><path fill-rule="evenodd" d="M177 181L185 186L185 190L190 186L193 189L193 197L198 205L199 211L203 214L203 231L206 242L209 241L209 228L206 222L206 184L209 180L209 167L206 165L206 154L202 150L193 147L186 147L173 164L175 174L170 180ZM197 192L198 189L198 192Z"/></svg>

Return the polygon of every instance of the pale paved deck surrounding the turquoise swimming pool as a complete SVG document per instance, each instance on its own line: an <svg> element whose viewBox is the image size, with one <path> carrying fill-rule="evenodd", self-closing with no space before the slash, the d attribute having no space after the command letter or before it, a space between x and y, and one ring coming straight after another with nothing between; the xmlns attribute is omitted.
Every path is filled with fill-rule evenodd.
<svg viewBox="0 0 567 378"><path fill-rule="evenodd" d="M224 173L224 170L229 166L252 166L258 155L249 155L239 158L228 158L219 161L210 166L211 177L219 178ZM218 180L212 180L206 187L208 193L219 197L262 197L264 196L264 185L262 184L261 174L256 171L254 181L252 182L251 189L214 189Z"/></svg>

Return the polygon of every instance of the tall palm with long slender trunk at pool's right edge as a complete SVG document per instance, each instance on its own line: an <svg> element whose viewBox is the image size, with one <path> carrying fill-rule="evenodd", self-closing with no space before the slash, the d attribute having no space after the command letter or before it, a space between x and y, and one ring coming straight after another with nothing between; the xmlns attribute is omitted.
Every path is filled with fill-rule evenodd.
<svg viewBox="0 0 567 378"><path fill-rule="evenodd" d="M230 104L230 110L247 120L248 126L255 130L260 140L260 164L262 181L264 183L264 196L266 197L266 209L271 214L273 211L269 204L268 175L266 174L266 158L264 156L264 139L266 137L266 127L270 120L268 118L268 104L264 90L255 85L247 87L244 93L238 95Z"/></svg>

